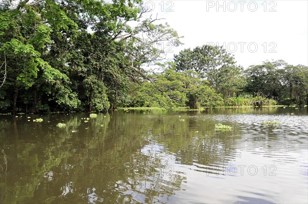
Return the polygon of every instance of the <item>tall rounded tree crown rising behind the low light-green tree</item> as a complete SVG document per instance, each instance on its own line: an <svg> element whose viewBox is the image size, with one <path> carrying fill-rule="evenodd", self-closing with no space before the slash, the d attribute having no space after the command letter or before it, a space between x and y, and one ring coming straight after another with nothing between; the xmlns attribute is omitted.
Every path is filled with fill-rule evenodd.
<svg viewBox="0 0 308 204"><path fill-rule="evenodd" d="M193 50L184 49L174 56L177 71L194 70L199 77L206 79L216 91L225 90L224 95L231 95L240 89L241 67L236 65L234 56L223 47L203 45ZM228 76L232 76L232 82ZM236 86L234 89L233 87Z"/></svg>

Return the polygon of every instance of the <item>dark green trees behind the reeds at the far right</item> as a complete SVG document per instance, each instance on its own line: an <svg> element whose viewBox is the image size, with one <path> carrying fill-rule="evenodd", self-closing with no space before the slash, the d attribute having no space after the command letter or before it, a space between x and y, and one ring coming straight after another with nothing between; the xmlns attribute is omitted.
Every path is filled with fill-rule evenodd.
<svg viewBox="0 0 308 204"><path fill-rule="evenodd" d="M246 92L274 98L285 105L304 104L308 80L306 66L288 65L283 60L266 61L245 70Z"/></svg>

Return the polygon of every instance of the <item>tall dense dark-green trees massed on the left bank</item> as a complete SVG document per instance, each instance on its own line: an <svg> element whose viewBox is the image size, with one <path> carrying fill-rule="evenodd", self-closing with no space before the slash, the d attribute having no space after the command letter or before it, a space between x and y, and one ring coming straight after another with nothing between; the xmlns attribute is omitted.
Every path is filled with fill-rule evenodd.
<svg viewBox="0 0 308 204"><path fill-rule="evenodd" d="M158 18L142 21L148 11L141 3L25 0L3 5L0 108L103 111L128 104L131 81L152 80L141 67L161 59L157 44L180 44L177 32L156 24ZM132 28L130 22L139 24Z"/></svg>

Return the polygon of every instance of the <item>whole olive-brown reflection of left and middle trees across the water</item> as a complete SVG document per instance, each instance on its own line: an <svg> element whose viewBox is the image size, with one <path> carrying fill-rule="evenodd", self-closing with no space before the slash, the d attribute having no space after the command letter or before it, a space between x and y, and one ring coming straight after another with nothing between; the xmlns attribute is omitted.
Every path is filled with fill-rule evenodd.
<svg viewBox="0 0 308 204"><path fill-rule="evenodd" d="M32 115L29 123L26 117L0 120L8 166L6 177L1 175L1 202L167 202L185 177L165 161L215 173L215 165L232 163L242 142L238 135L255 142L254 135L264 131L219 132L213 117L148 113L98 114L88 123L81 120L86 113L46 115L41 124L32 123ZM67 127L56 128L59 122ZM279 140L274 127L266 131L261 139ZM11 174L18 165L32 167L33 175Z"/></svg>

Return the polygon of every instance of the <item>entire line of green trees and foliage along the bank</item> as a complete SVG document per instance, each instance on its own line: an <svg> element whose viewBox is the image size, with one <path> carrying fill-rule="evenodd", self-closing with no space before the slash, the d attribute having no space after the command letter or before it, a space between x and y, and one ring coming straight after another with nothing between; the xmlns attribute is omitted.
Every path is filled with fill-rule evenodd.
<svg viewBox="0 0 308 204"><path fill-rule="evenodd" d="M308 103L306 66L278 60L243 70L232 54L209 45L161 64L159 45L179 46L181 37L143 17L141 0L3 2L2 112ZM157 63L160 73L143 69Z"/></svg>

